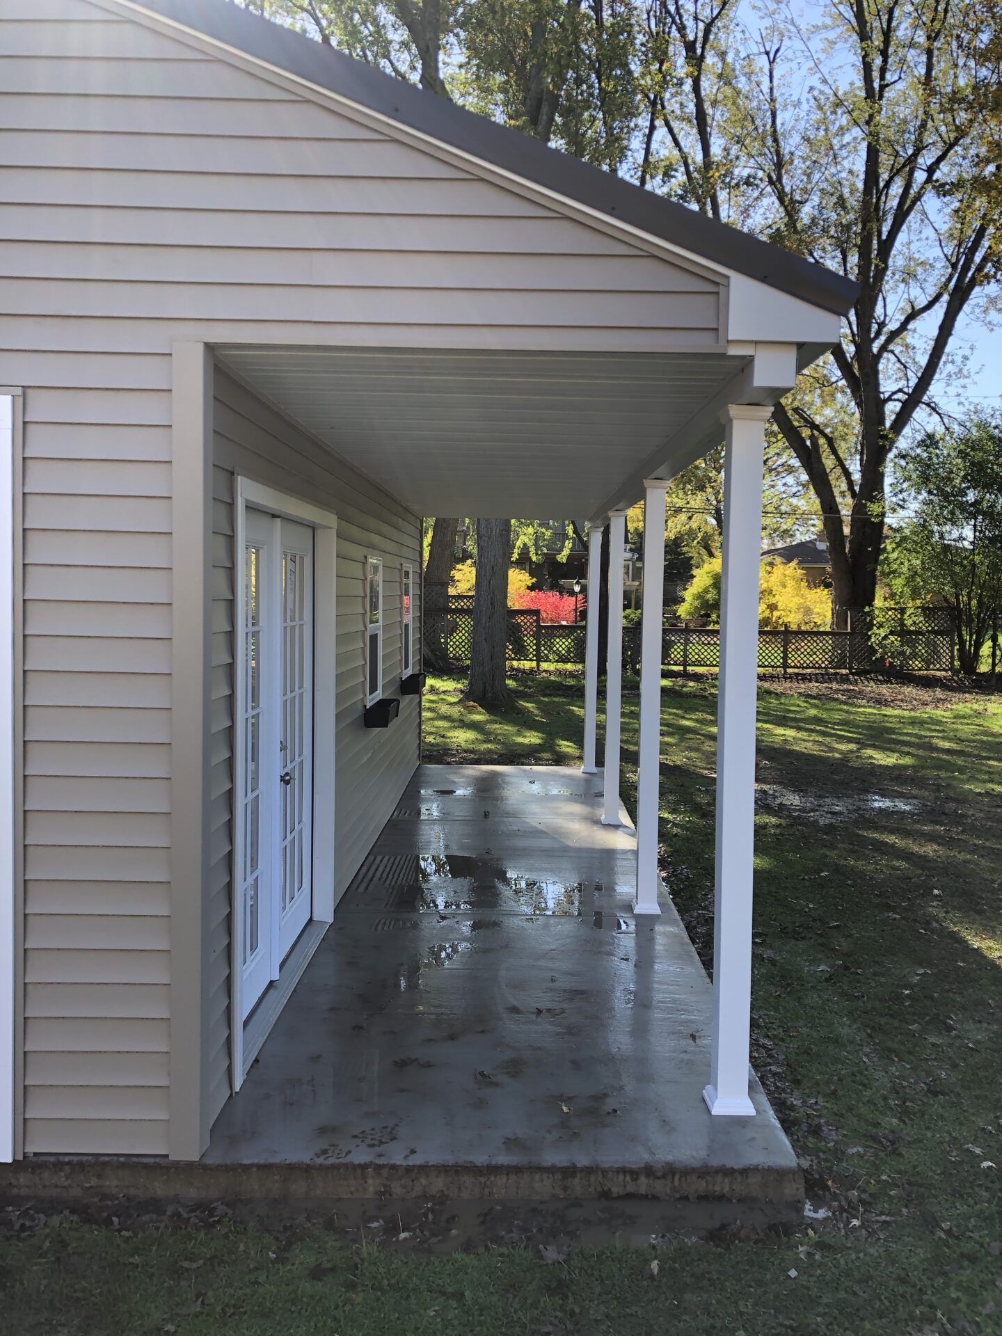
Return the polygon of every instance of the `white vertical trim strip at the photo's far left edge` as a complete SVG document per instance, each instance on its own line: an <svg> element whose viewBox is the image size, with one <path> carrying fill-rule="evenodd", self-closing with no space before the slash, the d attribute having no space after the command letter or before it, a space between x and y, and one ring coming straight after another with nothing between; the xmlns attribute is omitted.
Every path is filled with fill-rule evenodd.
<svg viewBox="0 0 1002 1336"><path fill-rule="evenodd" d="M0 1162L17 1150L17 779L15 465L21 391L0 389Z"/></svg>

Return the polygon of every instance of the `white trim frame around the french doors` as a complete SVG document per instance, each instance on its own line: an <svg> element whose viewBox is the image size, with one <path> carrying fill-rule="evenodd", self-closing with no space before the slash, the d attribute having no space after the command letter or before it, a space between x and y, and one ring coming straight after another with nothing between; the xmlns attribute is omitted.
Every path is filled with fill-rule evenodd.
<svg viewBox="0 0 1002 1336"><path fill-rule="evenodd" d="M298 497L277 492L274 488L235 476L234 553L243 552L246 512L266 510L283 520L307 524L314 530L314 675L313 675L313 914L299 942L289 954L277 983L261 999L254 1015L244 1025L230 1025L230 1078L234 1094L240 1089L247 1069L258 1055L269 1030L278 1019L289 995L302 977L310 957L319 946L327 925L334 918L334 782L335 782L335 701L333 675L335 672L337 635L337 536L338 517L333 510L301 501ZM243 605L243 561L234 561L234 607ZM242 656L234 655L234 703L243 691ZM330 665L331 689L321 689L325 665ZM230 930L230 1015L242 1015L240 1003L240 943L243 942L243 896L239 894L238 851L243 847L243 810L238 802L239 780L243 774L242 729L234 727L232 764L232 859L230 868L231 930Z"/></svg>

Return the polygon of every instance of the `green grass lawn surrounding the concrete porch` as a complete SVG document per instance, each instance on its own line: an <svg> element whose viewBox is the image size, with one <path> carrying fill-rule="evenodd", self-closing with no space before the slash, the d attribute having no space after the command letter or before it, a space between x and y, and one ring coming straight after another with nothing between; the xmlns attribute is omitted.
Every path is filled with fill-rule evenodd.
<svg viewBox="0 0 1002 1336"><path fill-rule="evenodd" d="M458 687L429 684L426 760L578 759L578 681L518 677L504 713ZM665 685L663 866L704 958L715 711L712 681ZM1002 703L763 684L759 784L754 1061L822 1218L548 1264L211 1213L20 1210L0 1233L0 1331L1002 1332Z"/></svg>

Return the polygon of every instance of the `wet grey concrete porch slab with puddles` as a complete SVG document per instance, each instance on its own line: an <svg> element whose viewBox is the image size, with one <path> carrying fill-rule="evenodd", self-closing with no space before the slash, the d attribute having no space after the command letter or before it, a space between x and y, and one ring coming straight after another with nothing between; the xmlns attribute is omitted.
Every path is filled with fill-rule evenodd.
<svg viewBox="0 0 1002 1336"><path fill-rule="evenodd" d="M338 1166L345 1196L799 1201L758 1081L755 1118L703 1104L709 983L667 898L635 921L633 831L600 824L597 779L421 767L200 1168Z"/></svg>

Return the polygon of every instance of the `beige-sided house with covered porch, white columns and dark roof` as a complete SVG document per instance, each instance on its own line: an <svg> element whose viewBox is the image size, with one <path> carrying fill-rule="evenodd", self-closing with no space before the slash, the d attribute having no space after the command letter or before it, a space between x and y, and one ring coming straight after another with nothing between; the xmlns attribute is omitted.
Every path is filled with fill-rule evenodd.
<svg viewBox="0 0 1002 1336"><path fill-rule="evenodd" d="M0 1157L195 1162L251 1097L420 764L421 516L588 516L596 593L600 526L621 580L627 508L660 536L721 434L713 1022L677 1051L729 1153L767 1108L763 436L852 285L224 0L5 0L0 88ZM649 578L616 866L652 925L660 627ZM611 600L613 832L620 653Z"/></svg>

